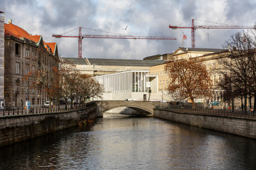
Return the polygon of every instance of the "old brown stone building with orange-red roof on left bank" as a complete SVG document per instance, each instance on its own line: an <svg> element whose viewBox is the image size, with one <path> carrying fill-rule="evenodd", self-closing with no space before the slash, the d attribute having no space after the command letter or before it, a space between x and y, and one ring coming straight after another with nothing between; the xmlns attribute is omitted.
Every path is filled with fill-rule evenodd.
<svg viewBox="0 0 256 170"><path fill-rule="evenodd" d="M58 67L56 43L45 43L42 36L31 36L12 21L5 24L4 41L5 106L24 106L26 101L44 104L47 93L37 86L35 73L44 67L44 72L51 74L52 66Z"/></svg>

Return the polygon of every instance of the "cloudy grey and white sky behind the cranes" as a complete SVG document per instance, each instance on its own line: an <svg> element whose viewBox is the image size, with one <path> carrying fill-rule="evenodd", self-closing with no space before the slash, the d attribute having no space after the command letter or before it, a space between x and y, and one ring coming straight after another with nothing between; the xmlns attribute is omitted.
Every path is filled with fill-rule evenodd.
<svg viewBox="0 0 256 170"><path fill-rule="evenodd" d="M77 38L52 34L172 36L159 39L93 39L82 41L82 56L100 59L143 59L191 48L191 29L170 29L169 25L252 26L256 19L255 0L1 0L5 23L15 24L32 35L56 42L60 57L78 56ZM127 27L127 29L125 29ZM72 31L73 30L73 31ZM196 29L196 48L223 48L225 41L241 29ZM115 33L115 34L113 34ZM183 34L187 39L183 40Z"/></svg>

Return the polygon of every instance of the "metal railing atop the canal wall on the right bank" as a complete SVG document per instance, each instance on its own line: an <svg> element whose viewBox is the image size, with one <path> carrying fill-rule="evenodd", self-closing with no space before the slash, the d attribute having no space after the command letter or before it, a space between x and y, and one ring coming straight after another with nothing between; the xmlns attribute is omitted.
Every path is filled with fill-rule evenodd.
<svg viewBox="0 0 256 170"><path fill-rule="evenodd" d="M156 106L156 109L170 110L180 113L191 113L198 115L216 115L225 117L238 117L238 118L253 118L256 119L256 111L243 111L243 110L223 110L223 109L209 109L209 108L182 108L172 106Z"/></svg>

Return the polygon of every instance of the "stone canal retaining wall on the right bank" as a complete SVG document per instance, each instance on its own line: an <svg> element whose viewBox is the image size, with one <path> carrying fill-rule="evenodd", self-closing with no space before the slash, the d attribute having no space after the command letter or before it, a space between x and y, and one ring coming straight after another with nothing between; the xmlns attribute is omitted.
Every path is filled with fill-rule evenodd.
<svg viewBox="0 0 256 170"><path fill-rule="evenodd" d="M256 139L256 120L250 118L196 115L156 109L154 117Z"/></svg>

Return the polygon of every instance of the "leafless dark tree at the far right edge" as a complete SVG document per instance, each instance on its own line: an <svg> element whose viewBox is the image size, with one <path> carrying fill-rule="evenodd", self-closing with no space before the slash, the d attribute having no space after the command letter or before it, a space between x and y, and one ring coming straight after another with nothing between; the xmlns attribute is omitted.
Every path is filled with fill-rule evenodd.
<svg viewBox="0 0 256 170"><path fill-rule="evenodd" d="M255 99L256 95L255 41L248 32L237 32L230 36L223 47L228 48L229 52L218 59L222 68L220 73L232 83L230 87L233 88L232 91L236 92L234 97L243 96L241 99L244 99L244 110L246 111L248 96L252 99L252 95L254 95Z"/></svg>

